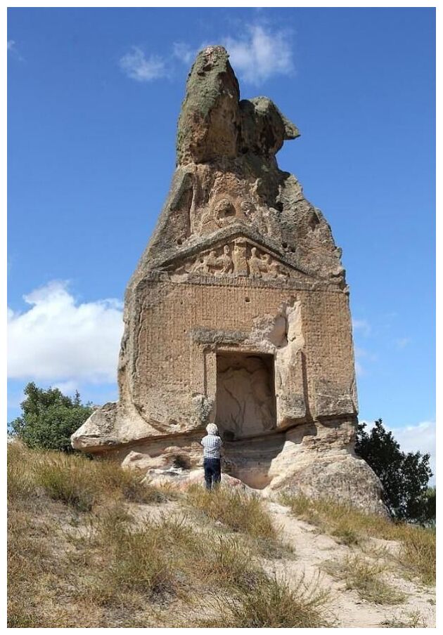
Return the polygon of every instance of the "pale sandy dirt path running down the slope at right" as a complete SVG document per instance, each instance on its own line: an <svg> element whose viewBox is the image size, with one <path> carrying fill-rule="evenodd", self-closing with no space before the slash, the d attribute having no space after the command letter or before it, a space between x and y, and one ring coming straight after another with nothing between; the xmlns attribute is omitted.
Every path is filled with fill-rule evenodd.
<svg viewBox="0 0 443 635"><path fill-rule="evenodd" d="M281 528L281 539L295 549L296 557L291 561L268 562L267 570L274 570L286 578L299 578L304 574L306 582L319 578L319 586L331 592L330 614L336 618L337 627L380 627L386 621L411 622L414 618L420 627L435 627L434 588L414 584L392 573L386 577L386 582L407 596L404 603L377 605L362 600L356 591L347 591L342 582L334 580L322 568L324 561L340 560L356 552L363 554L361 549L338 544L314 526L294 518L288 507L273 502L268 505L274 523ZM370 542L368 539L368 545ZM376 542L389 544L381 540Z"/></svg>

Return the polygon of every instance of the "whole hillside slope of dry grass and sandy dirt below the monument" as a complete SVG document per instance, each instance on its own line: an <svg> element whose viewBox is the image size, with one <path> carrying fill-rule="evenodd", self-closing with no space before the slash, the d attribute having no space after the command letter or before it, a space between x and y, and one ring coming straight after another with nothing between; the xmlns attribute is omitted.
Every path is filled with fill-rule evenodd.
<svg viewBox="0 0 443 635"><path fill-rule="evenodd" d="M435 627L435 532L8 447L10 627Z"/></svg>

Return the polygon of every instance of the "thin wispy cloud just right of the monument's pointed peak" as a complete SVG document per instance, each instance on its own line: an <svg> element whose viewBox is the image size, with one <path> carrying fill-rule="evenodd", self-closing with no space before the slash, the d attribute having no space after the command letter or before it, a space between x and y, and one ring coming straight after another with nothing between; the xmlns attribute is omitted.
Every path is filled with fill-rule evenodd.
<svg viewBox="0 0 443 635"><path fill-rule="evenodd" d="M245 25L243 37L222 37L233 70L250 84L262 84L278 74L294 71L290 32L262 25Z"/></svg>

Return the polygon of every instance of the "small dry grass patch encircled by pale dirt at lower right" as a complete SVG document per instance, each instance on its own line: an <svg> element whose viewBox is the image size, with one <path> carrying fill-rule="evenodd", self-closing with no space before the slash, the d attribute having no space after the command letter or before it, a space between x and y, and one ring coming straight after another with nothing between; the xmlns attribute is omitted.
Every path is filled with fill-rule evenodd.
<svg viewBox="0 0 443 635"><path fill-rule="evenodd" d="M328 561L323 568L333 577L345 582L347 590L354 589L359 597L375 604L401 604L406 596L383 580L385 566L361 556L348 556L341 562Z"/></svg>

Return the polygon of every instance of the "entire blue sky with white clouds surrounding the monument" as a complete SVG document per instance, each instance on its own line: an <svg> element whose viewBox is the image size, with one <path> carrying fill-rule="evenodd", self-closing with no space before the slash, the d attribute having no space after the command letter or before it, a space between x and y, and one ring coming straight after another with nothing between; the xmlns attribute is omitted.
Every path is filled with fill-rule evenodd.
<svg viewBox="0 0 443 635"><path fill-rule="evenodd" d="M433 8L10 8L8 418L30 380L117 398L124 288L206 44L302 133L278 162L343 249L360 418L432 450Z"/></svg>

